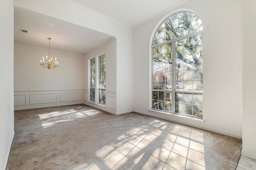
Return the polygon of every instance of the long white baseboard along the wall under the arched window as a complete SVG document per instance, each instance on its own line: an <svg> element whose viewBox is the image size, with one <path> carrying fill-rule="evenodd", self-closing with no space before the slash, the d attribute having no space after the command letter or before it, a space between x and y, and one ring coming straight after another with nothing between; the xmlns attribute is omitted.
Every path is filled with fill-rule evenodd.
<svg viewBox="0 0 256 170"><path fill-rule="evenodd" d="M149 115L149 116L152 116L152 117L158 117L160 119L165 119L165 120L173 121L173 122L176 122L176 123L181 123L181 124L184 124L184 125L189 125L189 126L192 126L192 127L197 127L199 129L203 129L203 130L207 130L207 131L211 131L211 132L215 132L215 133L220 133L222 135L227 135L227 136L231 136L231 137L242 139L242 135L237 135L237 134L234 134L234 133L220 131L218 129L212 129L212 128L208 128L208 127L203 127L203 126L200 126L200 125L194 125L194 124L190 124L190 123L187 123L187 122L178 121L178 120L170 119L170 118L167 118L167 117L162 117L162 116L159 116L159 115L153 115L153 114L150 114L150 113L145 113L145 112L142 112L142 111L136 111L135 110L134 112L141 113L141 114L144 114L144 115Z"/></svg>

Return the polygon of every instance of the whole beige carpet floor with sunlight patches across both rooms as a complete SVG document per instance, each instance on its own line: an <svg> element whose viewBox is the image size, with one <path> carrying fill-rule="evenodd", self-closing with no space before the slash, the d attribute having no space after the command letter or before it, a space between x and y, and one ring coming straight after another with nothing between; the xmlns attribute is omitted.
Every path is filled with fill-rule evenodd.
<svg viewBox="0 0 256 170"><path fill-rule="evenodd" d="M242 140L86 105L14 112L7 170L235 170Z"/></svg>

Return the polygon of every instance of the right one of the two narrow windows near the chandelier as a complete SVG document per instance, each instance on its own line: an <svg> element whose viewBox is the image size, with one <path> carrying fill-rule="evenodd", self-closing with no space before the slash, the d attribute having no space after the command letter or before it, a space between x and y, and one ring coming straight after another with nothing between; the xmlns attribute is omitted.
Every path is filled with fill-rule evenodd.
<svg viewBox="0 0 256 170"><path fill-rule="evenodd" d="M99 56L100 58L100 86L99 86L99 102L106 104L106 55Z"/></svg>

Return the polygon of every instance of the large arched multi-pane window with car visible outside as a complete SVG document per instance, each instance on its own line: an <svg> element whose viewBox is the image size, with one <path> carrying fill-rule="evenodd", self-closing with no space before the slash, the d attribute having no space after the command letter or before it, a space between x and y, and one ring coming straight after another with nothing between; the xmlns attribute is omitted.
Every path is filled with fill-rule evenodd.
<svg viewBox="0 0 256 170"><path fill-rule="evenodd" d="M192 12L174 14L157 29L152 43L152 109L202 118L202 33L202 21Z"/></svg>

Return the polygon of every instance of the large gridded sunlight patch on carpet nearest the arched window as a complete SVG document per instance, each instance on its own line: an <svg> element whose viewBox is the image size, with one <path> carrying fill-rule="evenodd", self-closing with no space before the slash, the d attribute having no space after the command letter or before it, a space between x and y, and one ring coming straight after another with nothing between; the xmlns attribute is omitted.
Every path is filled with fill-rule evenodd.
<svg viewBox="0 0 256 170"><path fill-rule="evenodd" d="M147 126L134 127L120 135L116 142L97 150L96 156L110 170L122 169L131 161L133 166L142 164L143 170L152 167L205 170L203 134L178 125L166 132L164 129L167 126L166 122L154 120ZM144 150L150 150L156 145L159 147L152 150L151 156L145 160Z"/></svg>

